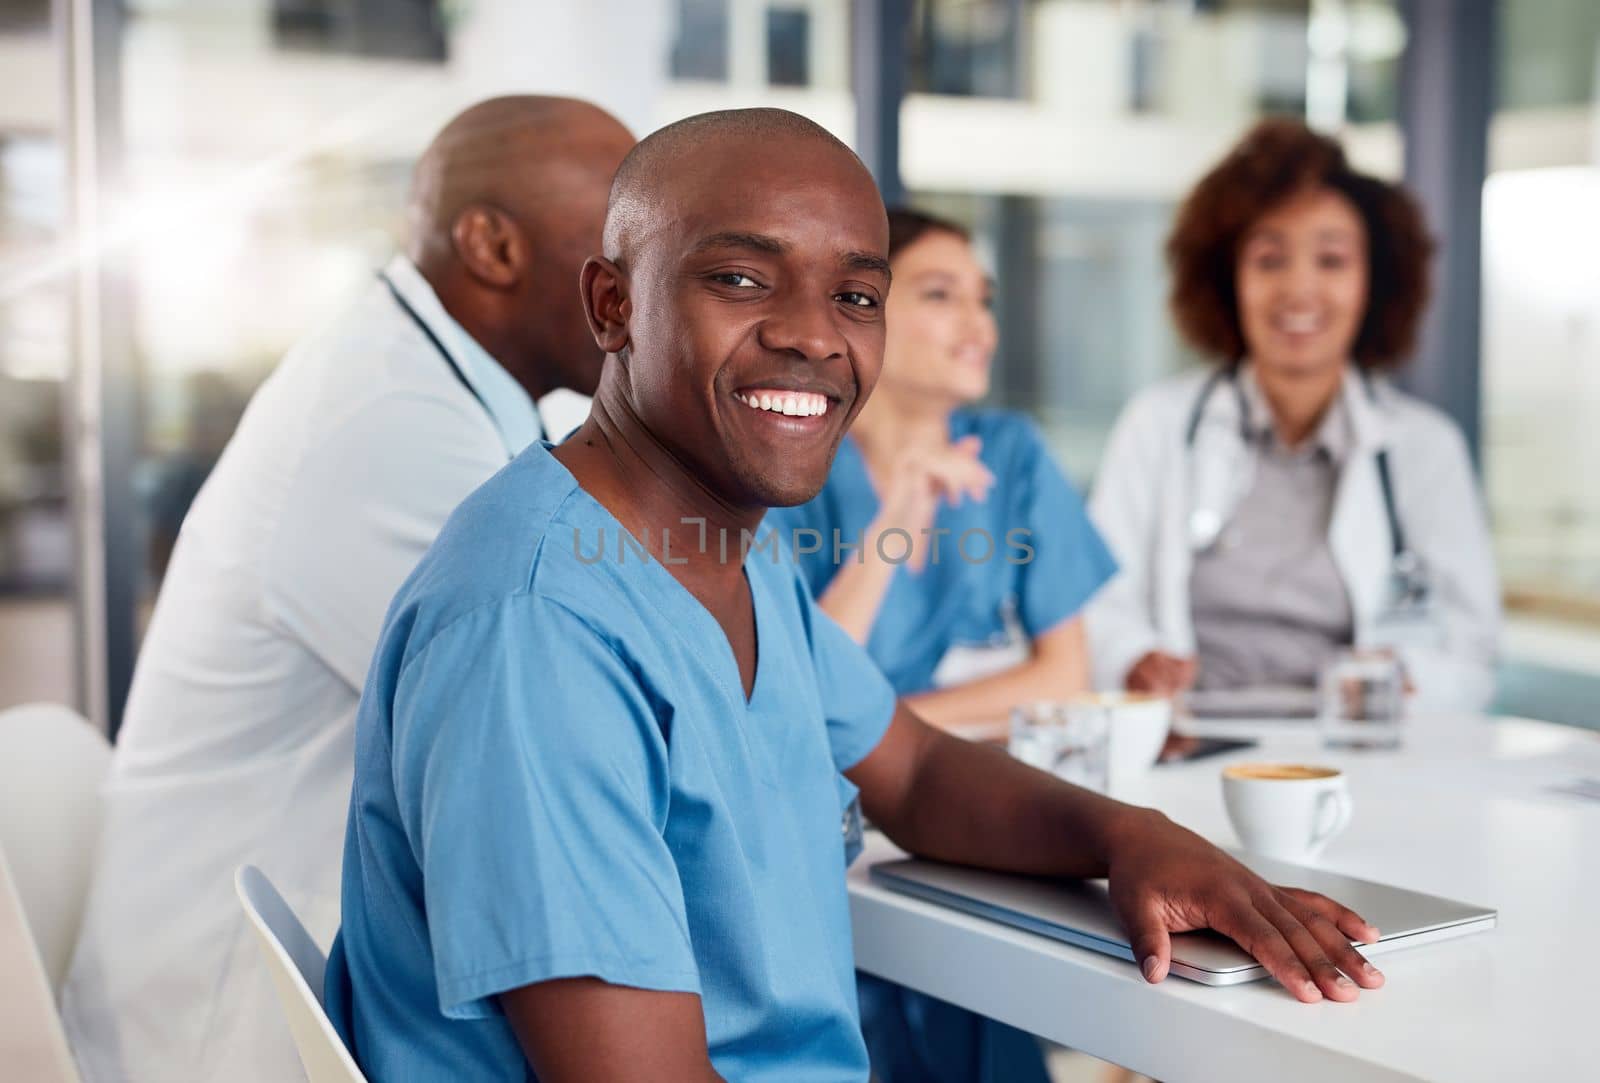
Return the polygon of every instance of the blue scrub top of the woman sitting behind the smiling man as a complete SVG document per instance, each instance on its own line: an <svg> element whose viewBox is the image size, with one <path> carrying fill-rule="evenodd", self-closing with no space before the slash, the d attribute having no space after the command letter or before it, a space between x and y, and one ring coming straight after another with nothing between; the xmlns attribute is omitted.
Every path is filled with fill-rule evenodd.
<svg viewBox="0 0 1600 1083"><path fill-rule="evenodd" d="M971 435L982 442L979 459L995 477L989 499L939 507L933 526L949 533L939 534L938 563L917 574L896 569L867 638L872 659L902 696L933 688L933 673L952 646L1002 646L1011 629L1027 640L1043 635L1075 616L1117 571L1032 421L1002 410L955 411L950 440ZM834 531L843 542L859 542L877 514L861 448L846 437L822 491L798 507L773 509L766 523L786 539L800 528L821 534L821 549L798 557L811 590L821 595L840 569ZM798 538L797 552L814 541ZM981 560L986 538L994 552ZM898 542L886 552L898 553ZM840 553L854 560L853 550Z"/></svg>

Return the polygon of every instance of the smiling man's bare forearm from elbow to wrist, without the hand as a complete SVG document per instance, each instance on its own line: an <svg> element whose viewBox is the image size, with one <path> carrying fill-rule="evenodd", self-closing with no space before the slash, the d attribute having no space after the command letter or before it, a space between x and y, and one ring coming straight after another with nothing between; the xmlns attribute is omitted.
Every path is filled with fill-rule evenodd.
<svg viewBox="0 0 1600 1083"><path fill-rule="evenodd" d="M1000 749L928 733L904 800L867 813L896 845L939 861L1104 877L1118 835L1160 813L1069 785Z"/></svg>

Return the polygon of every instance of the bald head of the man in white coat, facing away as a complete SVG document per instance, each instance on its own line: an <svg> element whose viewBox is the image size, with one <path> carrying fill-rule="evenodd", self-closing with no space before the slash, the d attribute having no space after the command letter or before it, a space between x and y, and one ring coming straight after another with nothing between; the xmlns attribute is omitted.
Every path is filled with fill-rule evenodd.
<svg viewBox="0 0 1600 1083"><path fill-rule="evenodd" d="M530 394L592 392L600 355L578 294L611 176L634 138L571 98L493 98L416 165L408 253L445 309Z"/></svg>

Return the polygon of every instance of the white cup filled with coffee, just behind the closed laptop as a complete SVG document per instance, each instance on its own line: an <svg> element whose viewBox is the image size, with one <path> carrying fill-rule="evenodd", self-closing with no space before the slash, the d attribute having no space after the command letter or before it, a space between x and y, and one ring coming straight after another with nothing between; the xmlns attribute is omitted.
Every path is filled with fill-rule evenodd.
<svg viewBox="0 0 1600 1083"><path fill-rule="evenodd" d="M1310 861L1350 822L1350 792L1338 768L1235 763L1222 768L1222 803L1245 849Z"/></svg>

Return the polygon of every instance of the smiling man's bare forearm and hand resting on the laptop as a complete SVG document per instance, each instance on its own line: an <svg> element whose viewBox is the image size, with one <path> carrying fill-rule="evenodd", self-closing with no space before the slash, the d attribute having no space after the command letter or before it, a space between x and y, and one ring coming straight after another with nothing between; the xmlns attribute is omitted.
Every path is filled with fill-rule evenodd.
<svg viewBox="0 0 1600 1083"><path fill-rule="evenodd" d="M1166 977L1173 933L1211 928L1304 1001L1355 1000L1384 982L1350 947L1378 929L1347 907L1275 888L1155 809L952 737L904 702L846 774L872 822L909 853L997 872L1107 877L1147 981Z"/></svg>

